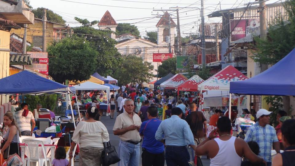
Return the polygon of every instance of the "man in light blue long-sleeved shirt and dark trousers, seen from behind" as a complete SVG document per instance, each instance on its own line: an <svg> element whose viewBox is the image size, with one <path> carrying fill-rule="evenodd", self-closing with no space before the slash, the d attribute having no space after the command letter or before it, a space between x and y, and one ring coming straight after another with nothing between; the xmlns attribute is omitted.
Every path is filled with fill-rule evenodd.
<svg viewBox="0 0 295 166"><path fill-rule="evenodd" d="M169 166L189 166L190 154L186 146L190 145L194 150L196 147L190 126L181 119L182 114L180 108L173 108L172 116L162 121L155 134L156 140L166 144L165 159Z"/></svg>

